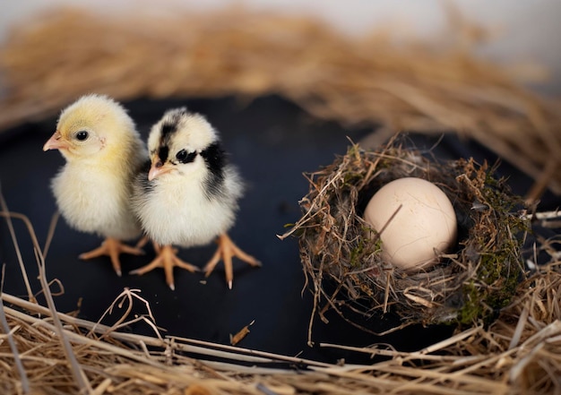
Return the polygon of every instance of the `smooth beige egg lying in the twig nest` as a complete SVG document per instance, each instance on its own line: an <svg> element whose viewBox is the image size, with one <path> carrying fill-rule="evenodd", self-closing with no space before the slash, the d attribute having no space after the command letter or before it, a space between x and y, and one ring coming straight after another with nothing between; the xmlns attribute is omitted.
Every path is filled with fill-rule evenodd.
<svg viewBox="0 0 561 395"><path fill-rule="evenodd" d="M457 236L452 202L422 178L384 185L368 202L364 219L380 234L382 258L407 271L434 265Z"/></svg>

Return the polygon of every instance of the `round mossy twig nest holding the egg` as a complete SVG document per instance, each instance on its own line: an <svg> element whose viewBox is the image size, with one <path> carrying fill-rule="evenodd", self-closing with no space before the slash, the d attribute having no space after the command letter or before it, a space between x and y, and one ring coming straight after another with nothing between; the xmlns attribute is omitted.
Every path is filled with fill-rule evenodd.
<svg viewBox="0 0 561 395"><path fill-rule="evenodd" d="M522 215L522 199L493 173L486 163L437 161L394 139L377 151L353 145L346 155L308 175L302 218L284 236L299 237L306 283L315 295L313 314L326 321L324 313L335 309L367 331L372 329L363 326L364 318L382 313L400 316L401 327L494 319L524 277L522 239L530 223ZM454 240L445 247L431 245L433 265L414 265L413 270L393 262L393 246L384 249L393 212L384 214L381 223L388 220L382 225L364 219L376 192L410 177L436 186L457 222L453 229L426 229ZM396 219L394 232L407 233L407 215L401 220ZM450 223L438 225L443 226ZM355 313L360 323L352 322Z"/></svg>

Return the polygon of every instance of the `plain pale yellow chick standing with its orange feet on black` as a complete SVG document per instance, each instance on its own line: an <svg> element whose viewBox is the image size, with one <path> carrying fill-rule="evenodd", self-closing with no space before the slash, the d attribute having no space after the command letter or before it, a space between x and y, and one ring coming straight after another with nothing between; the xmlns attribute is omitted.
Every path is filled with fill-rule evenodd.
<svg viewBox="0 0 561 395"><path fill-rule="evenodd" d="M108 255L120 276L119 254L143 253L121 243L141 234L129 207L132 182L146 155L134 121L115 100L86 95L62 111L43 150L59 150L66 159L51 185L66 222L105 237L101 246L79 257Z"/></svg>

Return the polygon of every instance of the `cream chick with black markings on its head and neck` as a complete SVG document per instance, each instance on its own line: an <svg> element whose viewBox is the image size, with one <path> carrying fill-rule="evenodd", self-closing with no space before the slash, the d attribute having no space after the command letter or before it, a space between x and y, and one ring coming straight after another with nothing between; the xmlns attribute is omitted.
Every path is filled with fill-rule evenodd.
<svg viewBox="0 0 561 395"><path fill-rule="evenodd" d="M134 184L133 208L158 255L131 273L163 267L169 288L175 289L174 267L198 268L180 260L174 245L193 247L217 239L218 249L203 270L208 277L222 260L231 289L232 257L251 266L261 263L227 235L244 188L236 168L226 163L219 134L204 116L185 107L171 109L152 126L148 150L150 164Z"/></svg>

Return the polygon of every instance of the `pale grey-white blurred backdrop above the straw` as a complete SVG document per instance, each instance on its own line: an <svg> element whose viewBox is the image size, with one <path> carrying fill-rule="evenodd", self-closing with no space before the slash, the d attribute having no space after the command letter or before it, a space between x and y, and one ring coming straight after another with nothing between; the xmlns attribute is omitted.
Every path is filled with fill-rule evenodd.
<svg viewBox="0 0 561 395"><path fill-rule="evenodd" d="M430 38L444 28L445 0L2 0L0 42L11 26L60 5L80 5L108 13L212 9L243 4L258 10L314 15L338 29L360 34L376 27L407 27ZM548 92L561 93L561 0L449 0L472 21L491 27L496 39L480 53L505 63L535 62L552 73ZM155 5L154 5L155 4ZM154 9L151 10L151 7ZM156 10L157 8L157 10Z"/></svg>

